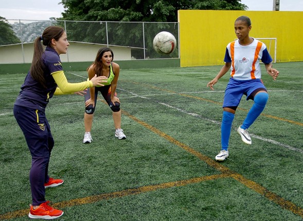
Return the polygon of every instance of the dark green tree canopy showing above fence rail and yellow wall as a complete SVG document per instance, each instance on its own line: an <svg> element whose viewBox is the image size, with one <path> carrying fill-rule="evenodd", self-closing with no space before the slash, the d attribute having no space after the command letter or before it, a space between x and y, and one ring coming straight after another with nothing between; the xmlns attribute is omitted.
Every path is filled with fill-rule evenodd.
<svg viewBox="0 0 303 221"><path fill-rule="evenodd" d="M180 9L245 10L241 0L62 0L63 20L177 22Z"/></svg>

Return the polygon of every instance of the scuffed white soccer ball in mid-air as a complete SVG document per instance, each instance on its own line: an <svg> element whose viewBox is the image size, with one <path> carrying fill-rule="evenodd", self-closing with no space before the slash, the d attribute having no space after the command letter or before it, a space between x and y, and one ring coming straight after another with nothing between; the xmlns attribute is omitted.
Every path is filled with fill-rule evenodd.
<svg viewBox="0 0 303 221"><path fill-rule="evenodd" d="M176 39L173 34L161 31L153 40L153 47L159 54L170 54L176 48Z"/></svg>

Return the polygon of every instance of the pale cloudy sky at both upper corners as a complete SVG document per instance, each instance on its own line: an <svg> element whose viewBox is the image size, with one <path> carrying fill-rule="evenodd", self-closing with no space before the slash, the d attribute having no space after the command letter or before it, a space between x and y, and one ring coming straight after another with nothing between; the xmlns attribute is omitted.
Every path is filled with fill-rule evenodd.
<svg viewBox="0 0 303 221"><path fill-rule="evenodd" d="M7 20L49 20L62 17L61 0L0 0L0 16ZM272 11L273 0L241 0L248 11ZM303 0L280 0L280 11L303 11Z"/></svg>

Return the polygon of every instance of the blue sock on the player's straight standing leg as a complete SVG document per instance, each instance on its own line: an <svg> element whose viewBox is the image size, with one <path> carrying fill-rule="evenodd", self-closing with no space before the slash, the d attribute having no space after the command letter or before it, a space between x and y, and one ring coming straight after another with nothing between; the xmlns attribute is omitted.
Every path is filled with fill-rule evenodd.
<svg viewBox="0 0 303 221"><path fill-rule="evenodd" d="M231 124L233 124L234 118L235 115L233 113L223 111L223 118L221 124L221 145L222 145L222 150L225 151L227 151L228 149Z"/></svg>

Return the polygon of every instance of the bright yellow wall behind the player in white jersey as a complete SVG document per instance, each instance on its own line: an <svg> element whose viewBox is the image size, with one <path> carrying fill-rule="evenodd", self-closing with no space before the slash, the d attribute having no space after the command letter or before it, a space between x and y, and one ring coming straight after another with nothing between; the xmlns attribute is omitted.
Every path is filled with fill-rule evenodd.
<svg viewBox="0 0 303 221"><path fill-rule="evenodd" d="M249 36L277 38L276 62L303 61L303 12L180 10L181 67L224 64L225 48L236 39L237 17L252 21ZM260 40L269 48L269 40ZM274 57L274 41L271 43Z"/></svg>

